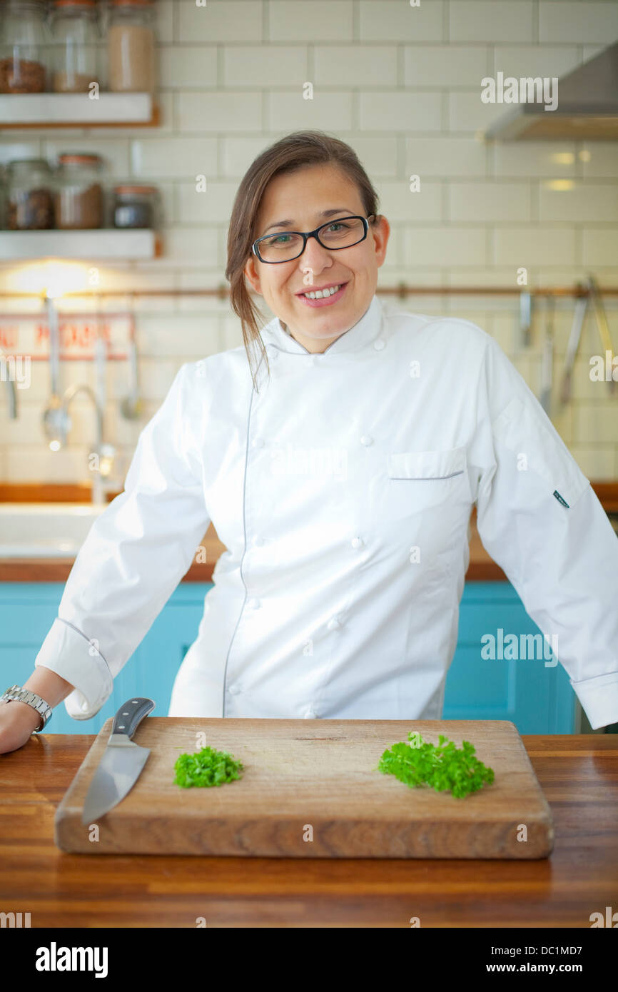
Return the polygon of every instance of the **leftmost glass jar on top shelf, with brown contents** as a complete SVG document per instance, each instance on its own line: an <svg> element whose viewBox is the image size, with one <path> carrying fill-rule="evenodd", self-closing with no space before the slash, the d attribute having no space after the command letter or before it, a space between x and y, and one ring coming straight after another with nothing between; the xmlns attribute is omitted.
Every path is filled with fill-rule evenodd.
<svg viewBox="0 0 618 992"><path fill-rule="evenodd" d="M46 7L6 0L0 26L0 93L44 93L47 86Z"/></svg>

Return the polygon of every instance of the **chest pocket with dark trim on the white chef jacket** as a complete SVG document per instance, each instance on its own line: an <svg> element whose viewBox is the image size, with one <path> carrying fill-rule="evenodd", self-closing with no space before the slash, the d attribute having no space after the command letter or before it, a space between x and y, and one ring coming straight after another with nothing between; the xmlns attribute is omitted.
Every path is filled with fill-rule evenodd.
<svg viewBox="0 0 618 992"><path fill-rule="evenodd" d="M393 451L387 473L386 509L392 519L469 500L465 447Z"/></svg>

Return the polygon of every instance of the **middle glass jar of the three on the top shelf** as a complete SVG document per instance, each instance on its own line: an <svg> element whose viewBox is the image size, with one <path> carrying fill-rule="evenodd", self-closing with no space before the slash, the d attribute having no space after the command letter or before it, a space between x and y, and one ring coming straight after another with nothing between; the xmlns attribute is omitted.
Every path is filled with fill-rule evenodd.
<svg viewBox="0 0 618 992"><path fill-rule="evenodd" d="M52 14L52 85L56 93L87 93L98 83L98 28L94 0L55 0Z"/></svg>

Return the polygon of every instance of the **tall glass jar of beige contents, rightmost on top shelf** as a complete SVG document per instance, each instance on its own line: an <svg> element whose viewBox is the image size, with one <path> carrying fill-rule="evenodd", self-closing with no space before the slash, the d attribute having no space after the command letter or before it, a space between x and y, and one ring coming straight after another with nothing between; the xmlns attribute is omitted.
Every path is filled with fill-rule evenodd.
<svg viewBox="0 0 618 992"><path fill-rule="evenodd" d="M151 0L112 0L107 58L112 92L153 92L155 30Z"/></svg>

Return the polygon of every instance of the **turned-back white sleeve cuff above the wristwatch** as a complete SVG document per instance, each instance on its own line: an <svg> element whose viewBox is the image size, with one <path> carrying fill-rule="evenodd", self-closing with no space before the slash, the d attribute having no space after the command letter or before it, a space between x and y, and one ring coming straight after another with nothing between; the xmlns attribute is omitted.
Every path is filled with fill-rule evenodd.
<svg viewBox="0 0 618 992"><path fill-rule="evenodd" d="M57 617L35 659L74 685L64 699L64 706L74 720L95 716L113 689L111 672L103 656L87 637Z"/></svg>

